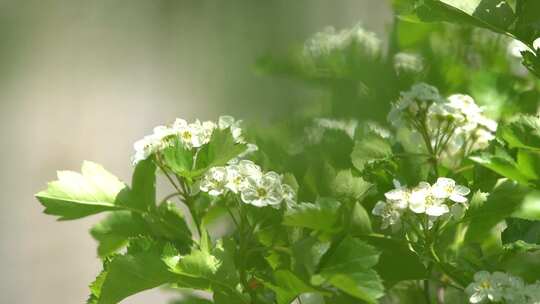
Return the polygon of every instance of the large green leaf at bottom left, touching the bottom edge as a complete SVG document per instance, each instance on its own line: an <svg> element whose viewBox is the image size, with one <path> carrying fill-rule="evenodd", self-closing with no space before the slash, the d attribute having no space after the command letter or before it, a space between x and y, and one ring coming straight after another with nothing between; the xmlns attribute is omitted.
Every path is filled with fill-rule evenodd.
<svg viewBox="0 0 540 304"><path fill-rule="evenodd" d="M102 275L98 277L102 282L97 304L118 303L138 292L175 282L177 278L161 260L161 246L157 244L128 249L125 255L115 256Z"/></svg>

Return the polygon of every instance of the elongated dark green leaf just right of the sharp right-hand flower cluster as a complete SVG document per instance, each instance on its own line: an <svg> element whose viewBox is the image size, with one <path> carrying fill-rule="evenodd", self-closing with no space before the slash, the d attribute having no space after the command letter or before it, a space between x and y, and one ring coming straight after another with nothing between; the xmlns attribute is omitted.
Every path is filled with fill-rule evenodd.
<svg viewBox="0 0 540 304"><path fill-rule="evenodd" d="M464 218L469 221L465 241L480 242L488 238L491 228L519 209L527 189L515 182L502 181L489 194L487 201L471 209Z"/></svg>

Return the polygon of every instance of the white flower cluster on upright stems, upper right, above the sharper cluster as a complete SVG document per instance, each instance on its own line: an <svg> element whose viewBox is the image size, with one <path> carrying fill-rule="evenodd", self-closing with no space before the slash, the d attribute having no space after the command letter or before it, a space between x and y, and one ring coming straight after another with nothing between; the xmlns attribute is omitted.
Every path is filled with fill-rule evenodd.
<svg viewBox="0 0 540 304"><path fill-rule="evenodd" d="M398 129L427 133L432 149L445 159L486 148L497 130L497 122L487 118L471 96L444 98L437 88L425 83L401 92L388 120Z"/></svg>

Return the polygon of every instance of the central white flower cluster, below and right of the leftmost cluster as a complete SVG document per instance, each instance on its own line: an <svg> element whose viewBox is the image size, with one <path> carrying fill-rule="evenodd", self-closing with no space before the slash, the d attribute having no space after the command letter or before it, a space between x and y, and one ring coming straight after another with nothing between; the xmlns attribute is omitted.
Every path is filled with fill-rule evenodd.
<svg viewBox="0 0 540 304"><path fill-rule="evenodd" d="M277 206L285 201L294 204L296 193L283 182L276 172L263 172L261 167L249 160L225 167L213 167L204 175L199 188L211 196L227 192L240 196L240 199L256 207Z"/></svg>

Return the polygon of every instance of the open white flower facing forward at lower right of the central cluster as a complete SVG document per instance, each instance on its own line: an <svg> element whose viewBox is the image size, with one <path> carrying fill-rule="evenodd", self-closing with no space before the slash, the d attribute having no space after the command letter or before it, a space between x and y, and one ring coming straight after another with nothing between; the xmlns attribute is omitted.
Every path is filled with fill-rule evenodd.
<svg viewBox="0 0 540 304"><path fill-rule="evenodd" d="M283 200L281 177L272 171L259 178L249 176L240 197L244 203L257 207L278 205Z"/></svg>

